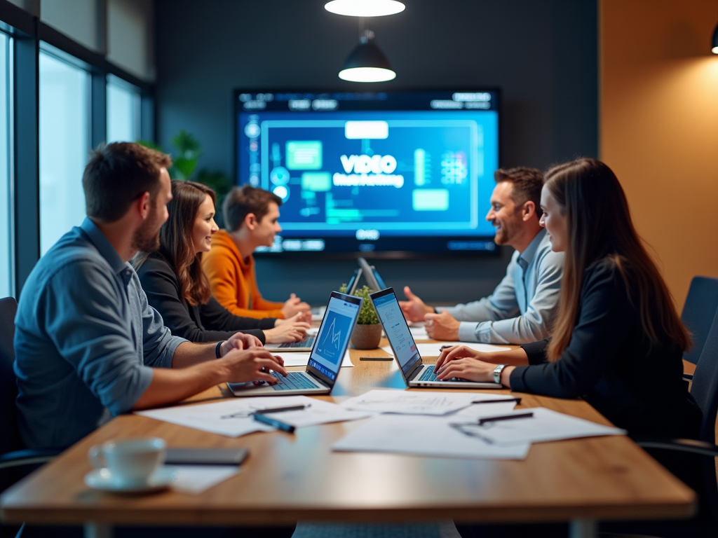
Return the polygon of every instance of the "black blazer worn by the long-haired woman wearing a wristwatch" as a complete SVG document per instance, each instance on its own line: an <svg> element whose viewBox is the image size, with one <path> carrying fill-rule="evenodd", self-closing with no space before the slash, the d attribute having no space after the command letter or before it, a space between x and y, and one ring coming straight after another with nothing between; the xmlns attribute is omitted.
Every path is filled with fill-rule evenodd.
<svg viewBox="0 0 718 538"><path fill-rule="evenodd" d="M701 411L683 380L683 353L667 339L651 346L635 285L630 289L633 297L611 260L589 266L578 321L561 358L546 362L548 340L521 346L531 366L511 372L511 390L583 397L631 435L696 439Z"/></svg>

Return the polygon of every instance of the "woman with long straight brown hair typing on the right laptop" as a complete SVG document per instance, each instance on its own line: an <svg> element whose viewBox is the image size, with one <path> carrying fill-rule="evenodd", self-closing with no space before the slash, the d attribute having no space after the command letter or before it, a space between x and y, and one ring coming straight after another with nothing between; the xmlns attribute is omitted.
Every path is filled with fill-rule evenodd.
<svg viewBox="0 0 718 538"><path fill-rule="evenodd" d="M541 209L552 250L565 253L551 338L490 354L448 349L438 377L583 397L631 434L697 438L701 412L682 379L690 335L615 174L595 159L556 166Z"/></svg>

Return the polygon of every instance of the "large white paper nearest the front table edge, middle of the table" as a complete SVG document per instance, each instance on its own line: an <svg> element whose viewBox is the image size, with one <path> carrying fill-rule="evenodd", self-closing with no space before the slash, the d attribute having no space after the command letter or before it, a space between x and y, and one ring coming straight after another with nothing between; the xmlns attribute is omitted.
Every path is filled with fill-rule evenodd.
<svg viewBox="0 0 718 538"><path fill-rule="evenodd" d="M521 460L530 446L485 443L452 428L445 417L378 415L334 443L332 450Z"/></svg>

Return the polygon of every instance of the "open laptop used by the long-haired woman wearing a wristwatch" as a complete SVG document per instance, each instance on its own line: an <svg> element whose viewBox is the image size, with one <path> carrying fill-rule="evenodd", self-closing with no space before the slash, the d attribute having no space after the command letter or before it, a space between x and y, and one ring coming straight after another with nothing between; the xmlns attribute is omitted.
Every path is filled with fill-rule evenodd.
<svg viewBox="0 0 718 538"><path fill-rule="evenodd" d="M391 344L394 358L399 363L401 375L409 387L427 387L443 389L500 389L498 383L480 383L468 379L449 379L442 381L434 375L434 364L424 364L421 361L419 350L416 349L416 342L411 336L409 325L406 324L404 313L396 300L392 288L370 293L376 313L384 326L384 332Z"/></svg>

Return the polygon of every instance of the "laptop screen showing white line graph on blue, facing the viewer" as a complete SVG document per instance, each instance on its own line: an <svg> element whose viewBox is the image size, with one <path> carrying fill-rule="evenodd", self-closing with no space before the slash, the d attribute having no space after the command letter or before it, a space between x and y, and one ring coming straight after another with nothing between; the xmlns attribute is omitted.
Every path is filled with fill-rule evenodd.
<svg viewBox="0 0 718 538"><path fill-rule="evenodd" d="M327 313L317 334L317 344L309 357L309 366L316 368L332 381L337 377L342 365L358 313L358 304L347 303L335 297L329 300Z"/></svg>

